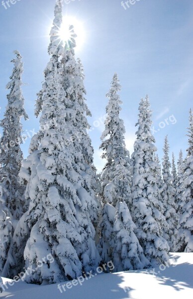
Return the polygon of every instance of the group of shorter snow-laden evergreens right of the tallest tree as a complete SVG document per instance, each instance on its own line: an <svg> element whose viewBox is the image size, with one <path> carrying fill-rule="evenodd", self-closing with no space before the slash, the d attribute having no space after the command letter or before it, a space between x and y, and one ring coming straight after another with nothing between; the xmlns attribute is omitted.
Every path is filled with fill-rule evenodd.
<svg viewBox="0 0 193 299"><path fill-rule="evenodd" d="M189 149L178 172L164 142L162 173L151 134L149 99L142 99L131 158L125 147L121 101L115 74L106 106L107 118L100 146L106 164L100 176L102 217L99 252L115 270L140 269L165 263L168 253L193 252L193 113L190 111ZM192 163L192 164L191 164ZM171 171L172 166L172 171Z"/></svg>

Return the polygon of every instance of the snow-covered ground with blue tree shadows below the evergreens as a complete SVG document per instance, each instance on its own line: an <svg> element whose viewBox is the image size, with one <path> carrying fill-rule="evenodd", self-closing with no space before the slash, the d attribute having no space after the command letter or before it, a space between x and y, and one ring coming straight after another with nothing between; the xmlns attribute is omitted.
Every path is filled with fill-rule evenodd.
<svg viewBox="0 0 193 299"><path fill-rule="evenodd" d="M166 268L166 269L165 269ZM2 278L3 284L11 280ZM66 284L66 283L65 283ZM23 282L7 286L0 298L10 299L192 299L193 253L170 255L165 267L147 271L98 274L70 289L56 285L35 286ZM6 289L6 287L4 287ZM61 290L61 291L60 291ZM62 292L62 293L61 293Z"/></svg>

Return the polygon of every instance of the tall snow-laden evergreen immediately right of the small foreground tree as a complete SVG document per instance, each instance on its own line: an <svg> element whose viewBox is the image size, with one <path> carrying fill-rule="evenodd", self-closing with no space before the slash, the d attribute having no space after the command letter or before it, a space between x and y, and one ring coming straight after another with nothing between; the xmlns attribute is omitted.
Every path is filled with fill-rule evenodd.
<svg viewBox="0 0 193 299"><path fill-rule="evenodd" d="M159 201L156 179L158 163L154 160L156 147L151 125L147 96L139 105L137 140L132 154L132 215L140 245L145 256L154 265L168 260L169 246L163 237L163 229L168 227L168 224L163 215L163 205Z"/></svg>

